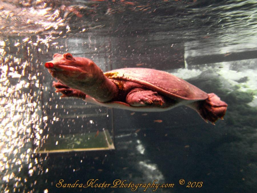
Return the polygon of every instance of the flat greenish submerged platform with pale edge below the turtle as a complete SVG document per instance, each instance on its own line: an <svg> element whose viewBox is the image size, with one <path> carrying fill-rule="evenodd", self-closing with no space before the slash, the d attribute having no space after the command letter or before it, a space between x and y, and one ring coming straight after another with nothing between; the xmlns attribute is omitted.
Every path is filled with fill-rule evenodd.
<svg viewBox="0 0 257 193"><path fill-rule="evenodd" d="M113 140L108 130L83 134L49 135L38 153L79 152L94 150L114 150Z"/></svg>

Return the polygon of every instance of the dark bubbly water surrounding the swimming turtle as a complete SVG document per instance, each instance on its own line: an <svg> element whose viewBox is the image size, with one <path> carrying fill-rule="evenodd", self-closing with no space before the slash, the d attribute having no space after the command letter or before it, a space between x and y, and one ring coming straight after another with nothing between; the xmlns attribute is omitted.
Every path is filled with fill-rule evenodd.
<svg viewBox="0 0 257 193"><path fill-rule="evenodd" d="M156 192L257 192L256 6L250 0L1 1L1 192L131 192L57 188L60 179L174 184ZM44 67L57 52L88 57L103 71L168 71L216 93L227 113L213 126L184 106L133 113L60 99ZM103 128L115 150L36 153L52 136ZM186 188L188 182L202 187Z"/></svg>

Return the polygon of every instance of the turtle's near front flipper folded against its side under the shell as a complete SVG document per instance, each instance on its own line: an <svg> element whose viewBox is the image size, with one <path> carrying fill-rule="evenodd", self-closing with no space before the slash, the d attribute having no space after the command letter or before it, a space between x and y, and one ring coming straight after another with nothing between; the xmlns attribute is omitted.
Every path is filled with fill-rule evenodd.
<svg viewBox="0 0 257 193"><path fill-rule="evenodd" d="M127 94L126 102L131 106L147 106L149 104L162 106L164 98L158 95L157 92L135 88Z"/></svg>

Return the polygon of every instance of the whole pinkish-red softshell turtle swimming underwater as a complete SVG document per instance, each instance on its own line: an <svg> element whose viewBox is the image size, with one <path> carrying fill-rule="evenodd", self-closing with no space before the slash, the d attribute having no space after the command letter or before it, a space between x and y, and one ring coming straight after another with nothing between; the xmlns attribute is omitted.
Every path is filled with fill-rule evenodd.
<svg viewBox="0 0 257 193"><path fill-rule="evenodd" d="M227 104L170 73L148 68L122 68L103 73L90 59L70 53L45 63L61 97L132 111L158 112L186 105L208 123L223 119Z"/></svg>

